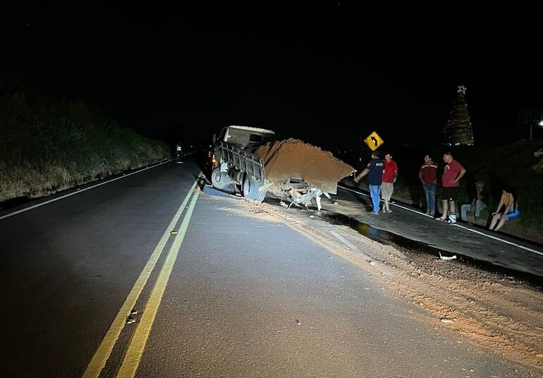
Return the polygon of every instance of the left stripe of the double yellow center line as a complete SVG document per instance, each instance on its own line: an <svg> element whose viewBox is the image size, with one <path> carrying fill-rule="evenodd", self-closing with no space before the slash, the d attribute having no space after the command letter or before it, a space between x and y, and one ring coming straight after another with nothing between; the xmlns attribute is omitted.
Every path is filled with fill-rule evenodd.
<svg viewBox="0 0 543 378"><path fill-rule="evenodd" d="M195 187L196 182L193 183L193 185L190 187L190 190L188 190L188 194L185 197L185 200L183 200L181 206L177 210L176 214L173 216L173 219L171 219L171 222L166 228L166 231L164 231L162 237L160 238L157 247L154 248L151 257L149 258L149 261L147 261L147 264L145 264L145 267L140 273L138 280L135 281L132 290L130 290L130 293L128 293L126 300L121 306L121 309L118 310L115 319L113 320L113 322L111 322L111 326L106 332L106 336L104 336L102 343L100 343L100 346L94 353L94 356L92 356L92 360L90 360L87 369L85 369L85 372L83 372L83 378L97 378L100 372L102 372L102 369L104 369L106 361L109 358L109 355L111 355L111 350L113 350L113 347L117 342L118 336L121 334L121 331L126 324L126 317L130 315L130 311L134 308L136 300L138 300L138 297L140 296L140 293L142 292L145 284L147 284L147 279L149 279L149 276L154 269L154 265L157 264L157 260L159 259L162 250L164 250L164 246L170 238L170 231L176 226L177 222L179 221L179 218L181 217L181 214L183 213L183 210L187 205L190 195L194 193Z"/></svg>

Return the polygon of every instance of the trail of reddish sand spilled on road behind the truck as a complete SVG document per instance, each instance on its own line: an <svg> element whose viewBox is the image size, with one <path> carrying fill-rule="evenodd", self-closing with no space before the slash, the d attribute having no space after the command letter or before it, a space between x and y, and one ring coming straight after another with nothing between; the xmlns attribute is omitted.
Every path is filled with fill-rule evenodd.
<svg viewBox="0 0 543 378"><path fill-rule="evenodd" d="M384 291L425 310L427 316L417 316L418 321L468 337L502 358L543 369L543 293L536 288L458 261L382 245L346 226L282 207L235 200L229 205L225 211L282 222L364 269Z"/></svg>

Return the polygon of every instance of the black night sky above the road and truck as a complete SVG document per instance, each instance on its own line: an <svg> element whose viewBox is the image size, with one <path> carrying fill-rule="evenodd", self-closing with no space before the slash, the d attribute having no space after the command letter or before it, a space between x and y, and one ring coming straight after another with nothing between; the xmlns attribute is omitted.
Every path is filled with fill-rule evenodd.
<svg viewBox="0 0 543 378"><path fill-rule="evenodd" d="M518 108L543 104L535 9L203 4L18 9L2 80L83 99L155 138L240 124L331 150L373 130L439 142L458 85L476 142L514 140Z"/></svg>

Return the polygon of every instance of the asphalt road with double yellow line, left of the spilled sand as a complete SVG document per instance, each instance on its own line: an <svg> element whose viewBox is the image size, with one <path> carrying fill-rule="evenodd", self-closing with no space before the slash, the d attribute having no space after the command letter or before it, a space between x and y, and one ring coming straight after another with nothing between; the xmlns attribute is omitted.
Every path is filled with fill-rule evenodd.
<svg viewBox="0 0 543 378"><path fill-rule="evenodd" d="M229 212L243 201L200 193L199 172L0 219L1 376L525 376L292 228Z"/></svg>

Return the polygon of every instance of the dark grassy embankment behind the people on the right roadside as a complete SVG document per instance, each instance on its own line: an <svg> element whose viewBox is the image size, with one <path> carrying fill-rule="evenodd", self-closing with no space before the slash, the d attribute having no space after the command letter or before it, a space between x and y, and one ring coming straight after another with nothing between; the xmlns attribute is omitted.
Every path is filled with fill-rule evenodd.
<svg viewBox="0 0 543 378"><path fill-rule="evenodd" d="M458 147L391 147L393 159L398 163L398 181L394 185L394 197L425 208L425 194L418 180L420 165L425 154L432 154L439 165L439 178L444 167L443 154L451 152L454 158L468 171L460 181L458 205L470 203L475 193L475 181L484 181L486 197L484 202L489 210L482 214L478 224L489 221L490 213L496 210L504 184L512 185L518 196L520 218L506 223L501 231L523 238L543 242L543 173L532 169L539 159L534 151L543 146L542 140L524 140L503 146L458 146ZM385 149L386 150L386 149ZM364 163L362 161L362 163ZM358 169L363 169L358 166ZM441 183L437 199L441 202ZM441 209L441 203L439 203ZM458 210L459 212L459 210Z"/></svg>

